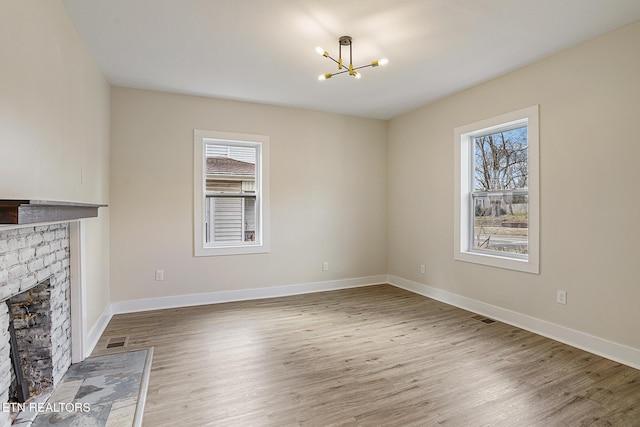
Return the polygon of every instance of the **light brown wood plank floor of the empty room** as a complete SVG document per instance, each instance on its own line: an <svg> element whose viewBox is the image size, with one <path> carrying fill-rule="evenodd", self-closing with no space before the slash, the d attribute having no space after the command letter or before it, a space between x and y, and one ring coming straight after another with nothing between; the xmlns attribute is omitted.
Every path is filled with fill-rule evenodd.
<svg viewBox="0 0 640 427"><path fill-rule="evenodd" d="M388 285L114 316L145 426L640 426L640 371Z"/></svg>

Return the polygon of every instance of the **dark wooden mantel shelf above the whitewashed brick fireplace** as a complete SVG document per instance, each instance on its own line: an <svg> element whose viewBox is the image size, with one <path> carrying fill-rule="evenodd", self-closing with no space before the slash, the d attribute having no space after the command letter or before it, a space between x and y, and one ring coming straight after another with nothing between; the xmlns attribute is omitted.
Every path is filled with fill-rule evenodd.
<svg viewBox="0 0 640 427"><path fill-rule="evenodd" d="M95 218L107 205L50 200L0 200L0 225L38 224Z"/></svg>

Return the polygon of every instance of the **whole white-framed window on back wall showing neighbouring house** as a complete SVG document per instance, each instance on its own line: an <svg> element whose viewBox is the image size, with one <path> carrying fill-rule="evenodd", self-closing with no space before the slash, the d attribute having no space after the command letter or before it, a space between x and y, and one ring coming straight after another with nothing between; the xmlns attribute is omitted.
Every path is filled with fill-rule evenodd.
<svg viewBox="0 0 640 427"><path fill-rule="evenodd" d="M268 143L261 135L194 131L196 256L269 251Z"/></svg>

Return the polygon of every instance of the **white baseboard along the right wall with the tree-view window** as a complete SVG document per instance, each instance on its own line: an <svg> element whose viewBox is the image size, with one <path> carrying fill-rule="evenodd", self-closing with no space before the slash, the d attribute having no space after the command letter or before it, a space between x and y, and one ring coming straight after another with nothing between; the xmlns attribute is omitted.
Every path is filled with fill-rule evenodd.
<svg viewBox="0 0 640 427"><path fill-rule="evenodd" d="M640 350L614 343L546 320L463 297L422 283L396 276L388 276L388 283L398 288L444 302L464 310L482 314L495 320L560 341L598 356L640 369Z"/></svg>

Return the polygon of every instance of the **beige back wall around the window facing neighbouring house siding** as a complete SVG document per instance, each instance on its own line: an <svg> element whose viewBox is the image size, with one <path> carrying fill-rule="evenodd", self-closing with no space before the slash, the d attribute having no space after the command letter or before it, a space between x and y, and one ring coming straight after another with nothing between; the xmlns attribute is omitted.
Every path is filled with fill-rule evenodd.
<svg viewBox="0 0 640 427"><path fill-rule="evenodd" d="M124 88L111 100L113 301L386 273L386 122ZM194 129L270 137L269 254L193 256Z"/></svg>

